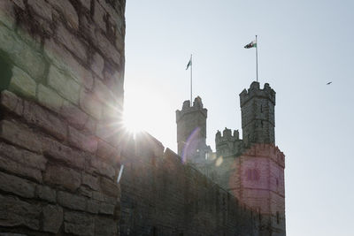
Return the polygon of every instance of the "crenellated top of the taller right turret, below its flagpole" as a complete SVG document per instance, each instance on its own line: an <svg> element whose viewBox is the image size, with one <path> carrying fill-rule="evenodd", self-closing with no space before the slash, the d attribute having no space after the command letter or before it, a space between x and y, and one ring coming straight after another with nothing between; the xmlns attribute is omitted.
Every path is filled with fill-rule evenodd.
<svg viewBox="0 0 354 236"><path fill-rule="evenodd" d="M267 98L273 103L273 105L275 105L275 91L273 88L271 88L268 83L265 83L264 88L261 89L259 88L259 82L253 81L250 84L250 88L248 90L243 89L242 93L240 94L241 106L249 102L250 98L255 96Z"/></svg>

